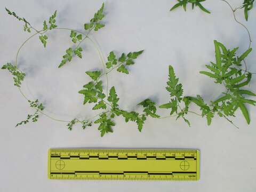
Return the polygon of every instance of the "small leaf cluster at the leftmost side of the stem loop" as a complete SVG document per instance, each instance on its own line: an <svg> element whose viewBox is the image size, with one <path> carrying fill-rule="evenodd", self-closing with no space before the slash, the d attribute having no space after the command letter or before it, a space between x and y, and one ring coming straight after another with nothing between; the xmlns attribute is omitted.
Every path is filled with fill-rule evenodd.
<svg viewBox="0 0 256 192"><path fill-rule="evenodd" d="M13 66L11 63L3 65L2 69L7 69L13 75L14 85L20 87L21 82L25 78L26 74L22 73L17 66Z"/></svg>

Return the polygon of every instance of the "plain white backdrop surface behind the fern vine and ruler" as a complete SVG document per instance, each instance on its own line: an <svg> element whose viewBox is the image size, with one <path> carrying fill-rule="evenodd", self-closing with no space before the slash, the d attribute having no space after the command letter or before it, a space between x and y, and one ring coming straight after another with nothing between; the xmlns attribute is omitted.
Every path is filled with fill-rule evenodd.
<svg viewBox="0 0 256 192"><path fill-rule="evenodd" d="M229 1L236 7L242 0ZM18 47L29 37L22 23L8 15L4 7L25 17L34 27L41 29L43 20L58 10L57 25L83 30L85 22L93 17L102 1L10 1L0 2L0 63L14 62ZM213 40L233 48L239 54L248 46L243 27L234 22L228 5L208 0L203 5L212 14L196 7L187 12L177 9L176 3L163 1L111 1L106 3L106 27L93 37L101 45L105 58L110 51L145 52L129 68L130 74L113 72L110 85L115 85L120 106L127 110L140 110L136 106L143 99L153 99L157 105L169 101L165 90L167 70L173 65L183 84L185 95L201 94L206 102L216 99L224 90L213 80L199 74L207 63L214 61ZM256 42L256 9L244 20L243 11L237 13ZM46 106L45 112L60 119L89 118L91 106L83 106L77 93L90 79L86 70L102 66L97 52L89 41L83 43L83 59L74 58L63 68L57 66L65 50L72 45L69 31L54 30L47 33L46 49L38 37L31 39L21 50L18 66L26 72L22 90L30 99L38 98ZM247 59L248 68L256 71L253 51ZM174 118L151 119L142 133L135 123L115 119L114 133L100 138L97 126L82 130L80 125L69 131L65 123L52 121L46 116L37 123L14 127L33 113L7 71L0 71L0 191L255 191L255 117L256 109L248 106L251 124L247 125L237 111L236 129L225 119L215 117L211 126L206 119L190 114L191 127ZM106 79L104 79L106 80ZM105 81L106 82L106 81ZM253 76L248 89L256 89ZM106 87L106 84L105 84ZM191 110L198 111L196 106ZM166 116L167 110L158 110ZM130 182L130 181L56 181L47 179L47 150L56 147L95 148L196 148L201 150L201 179L197 182Z"/></svg>

